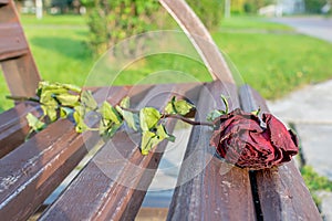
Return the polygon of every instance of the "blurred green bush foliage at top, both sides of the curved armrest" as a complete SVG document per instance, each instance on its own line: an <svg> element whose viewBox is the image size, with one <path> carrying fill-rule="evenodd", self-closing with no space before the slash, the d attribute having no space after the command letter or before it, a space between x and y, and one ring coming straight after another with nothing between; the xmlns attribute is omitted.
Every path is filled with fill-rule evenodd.
<svg viewBox="0 0 332 221"><path fill-rule="evenodd" d="M152 28L167 29L167 24L165 27L165 22L159 21L164 18L160 18L163 10L157 0L82 0L82 2L92 6L87 23L89 45L95 55L100 55L123 39L149 31ZM209 30L219 25L224 8L221 0L190 0L188 3ZM127 55L131 53L135 55L136 50L141 49L126 46L124 50L127 50Z"/></svg>

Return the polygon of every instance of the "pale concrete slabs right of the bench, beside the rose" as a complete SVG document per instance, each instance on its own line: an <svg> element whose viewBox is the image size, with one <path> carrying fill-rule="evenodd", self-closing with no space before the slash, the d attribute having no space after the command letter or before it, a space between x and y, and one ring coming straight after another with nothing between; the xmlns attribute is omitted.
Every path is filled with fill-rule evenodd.
<svg viewBox="0 0 332 221"><path fill-rule="evenodd" d="M332 81L308 85L289 96L268 102L282 122L294 123L304 159L314 170L332 180ZM320 194L326 221L332 221L332 193Z"/></svg>

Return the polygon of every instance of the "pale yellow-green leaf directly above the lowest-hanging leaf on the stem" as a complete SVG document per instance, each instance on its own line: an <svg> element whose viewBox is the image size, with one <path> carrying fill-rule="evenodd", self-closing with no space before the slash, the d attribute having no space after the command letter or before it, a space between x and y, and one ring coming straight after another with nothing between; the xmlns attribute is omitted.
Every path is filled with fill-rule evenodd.
<svg viewBox="0 0 332 221"><path fill-rule="evenodd" d="M162 115L154 107L144 107L139 110L139 125L143 131L147 131L155 127Z"/></svg>

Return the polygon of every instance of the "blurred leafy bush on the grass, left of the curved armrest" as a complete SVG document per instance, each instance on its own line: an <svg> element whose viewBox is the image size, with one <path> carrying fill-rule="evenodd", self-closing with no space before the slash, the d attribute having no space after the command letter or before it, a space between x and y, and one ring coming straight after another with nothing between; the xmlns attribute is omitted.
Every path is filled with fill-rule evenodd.
<svg viewBox="0 0 332 221"><path fill-rule="evenodd" d="M94 0L89 15L90 46L95 54L114 43L148 31L154 13L159 10L155 0Z"/></svg>

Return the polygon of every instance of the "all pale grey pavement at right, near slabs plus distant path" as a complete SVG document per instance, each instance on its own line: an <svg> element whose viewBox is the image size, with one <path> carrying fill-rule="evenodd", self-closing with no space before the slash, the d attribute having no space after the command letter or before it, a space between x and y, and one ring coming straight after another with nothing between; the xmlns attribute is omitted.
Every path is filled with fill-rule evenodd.
<svg viewBox="0 0 332 221"><path fill-rule="evenodd" d="M278 18L273 21L298 32L332 43L332 18ZM332 52L331 52L332 55ZM326 65L326 69L331 65ZM309 85L286 98L270 102L271 112L284 123L294 123L307 164L332 180L332 81ZM324 220L332 221L332 193L320 193Z"/></svg>

